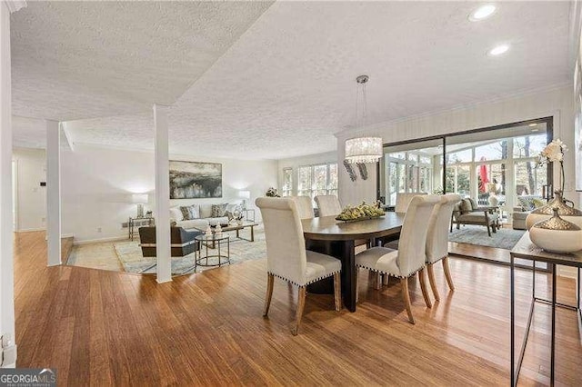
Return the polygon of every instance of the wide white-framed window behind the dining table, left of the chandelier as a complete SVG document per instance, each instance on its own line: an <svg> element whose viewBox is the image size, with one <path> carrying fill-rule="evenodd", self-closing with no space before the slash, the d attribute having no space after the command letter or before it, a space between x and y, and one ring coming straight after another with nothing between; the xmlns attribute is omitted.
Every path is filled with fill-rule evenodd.
<svg viewBox="0 0 582 387"><path fill-rule="evenodd" d="M297 195L309 196L333 194L337 196L337 164L300 166L297 169Z"/></svg>

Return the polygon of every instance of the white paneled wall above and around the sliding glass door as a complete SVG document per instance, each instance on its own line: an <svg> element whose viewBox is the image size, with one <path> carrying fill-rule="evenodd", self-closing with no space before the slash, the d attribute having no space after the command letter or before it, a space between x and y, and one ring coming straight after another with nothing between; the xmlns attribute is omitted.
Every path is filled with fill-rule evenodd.
<svg viewBox="0 0 582 387"><path fill-rule="evenodd" d="M384 143L394 143L424 138L437 134L452 134L471 129L485 128L499 124L515 123L540 117L554 116L554 138L561 138L569 148L574 144L574 101L571 85L555 89L522 94L512 98L459 107L435 114L421 114L385 124L368 126L361 130L337 134L338 163L344 159L344 144L355 135L377 135ZM575 152L565 156L566 186L565 196L579 206L579 195L575 190ZM557 166L556 166L557 167ZM376 165L368 164L369 178L351 182L340 168L339 197L342 203L358 203L362 200L376 200ZM555 170L554 186L559 186Z"/></svg>

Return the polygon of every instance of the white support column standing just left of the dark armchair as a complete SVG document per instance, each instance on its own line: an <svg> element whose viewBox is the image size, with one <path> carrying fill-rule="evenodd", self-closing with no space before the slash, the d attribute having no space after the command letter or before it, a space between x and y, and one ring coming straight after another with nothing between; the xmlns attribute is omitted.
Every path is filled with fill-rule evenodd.
<svg viewBox="0 0 582 387"><path fill-rule="evenodd" d="M156 133L156 257L157 282L172 281L170 250L170 162L167 135L167 106L154 105Z"/></svg>

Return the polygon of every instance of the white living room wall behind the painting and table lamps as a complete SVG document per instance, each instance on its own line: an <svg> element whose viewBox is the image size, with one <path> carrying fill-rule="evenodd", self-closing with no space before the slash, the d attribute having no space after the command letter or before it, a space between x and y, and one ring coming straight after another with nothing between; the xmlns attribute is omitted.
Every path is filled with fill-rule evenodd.
<svg viewBox="0 0 582 387"><path fill-rule="evenodd" d="M172 200L171 205L187 203L224 203L239 200L239 190L251 192L254 207L277 181L276 161L246 161L171 154L171 160L222 164L223 198ZM146 210L155 208L154 154L75 146L75 152L61 154L61 192L63 233L73 234L75 243L126 237L121 223L135 215L132 193L149 193ZM260 213L256 210L256 217ZM101 229L99 232L98 229Z"/></svg>

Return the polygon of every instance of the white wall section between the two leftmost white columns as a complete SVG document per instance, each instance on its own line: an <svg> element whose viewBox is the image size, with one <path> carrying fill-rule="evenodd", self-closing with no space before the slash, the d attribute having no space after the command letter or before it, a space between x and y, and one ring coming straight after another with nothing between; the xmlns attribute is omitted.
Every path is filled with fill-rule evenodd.
<svg viewBox="0 0 582 387"><path fill-rule="evenodd" d="M44 149L15 148L16 162L16 231L38 231L46 228L46 153Z"/></svg>

